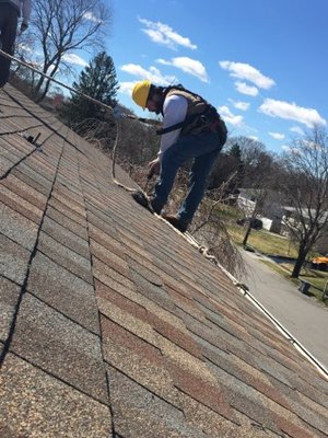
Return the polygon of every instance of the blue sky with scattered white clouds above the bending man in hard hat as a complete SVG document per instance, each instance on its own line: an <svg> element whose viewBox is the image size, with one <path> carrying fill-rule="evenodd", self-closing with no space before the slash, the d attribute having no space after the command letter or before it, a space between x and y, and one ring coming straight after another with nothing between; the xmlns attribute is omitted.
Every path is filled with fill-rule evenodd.
<svg viewBox="0 0 328 438"><path fill-rule="evenodd" d="M328 125L327 0L113 0L118 100L133 83L172 82L210 101L230 134L280 153Z"/></svg>

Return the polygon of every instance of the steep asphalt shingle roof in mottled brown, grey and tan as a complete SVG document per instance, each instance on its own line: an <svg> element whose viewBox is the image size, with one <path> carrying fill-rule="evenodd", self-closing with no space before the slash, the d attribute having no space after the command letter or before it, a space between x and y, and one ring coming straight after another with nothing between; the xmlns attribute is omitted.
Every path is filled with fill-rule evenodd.
<svg viewBox="0 0 328 438"><path fill-rule="evenodd" d="M0 160L1 437L327 437L317 369L10 85Z"/></svg>

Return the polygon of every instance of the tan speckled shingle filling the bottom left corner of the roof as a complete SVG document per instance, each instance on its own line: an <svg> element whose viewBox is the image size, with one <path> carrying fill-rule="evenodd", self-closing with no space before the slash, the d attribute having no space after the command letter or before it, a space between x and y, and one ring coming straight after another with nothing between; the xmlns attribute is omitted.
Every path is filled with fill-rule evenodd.
<svg viewBox="0 0 328 438"><path fill-rule="evenodd" d="M113 437L107 406L13 355L0 374L1 428L13 438Z"/></svg>

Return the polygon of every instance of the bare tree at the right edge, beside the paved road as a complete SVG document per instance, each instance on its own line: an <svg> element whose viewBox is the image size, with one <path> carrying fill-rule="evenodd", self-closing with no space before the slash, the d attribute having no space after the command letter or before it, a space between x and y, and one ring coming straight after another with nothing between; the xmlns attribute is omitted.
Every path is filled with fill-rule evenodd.
<svg viewBox="0 0 328 438"><path fill-rule="evenodd" d="M328 132L314 127L303 139L294 140L281 165L284 178L279 187L292 208L284 226L298 243L292 273L297 278L306 256L328 224Z"/></svg>

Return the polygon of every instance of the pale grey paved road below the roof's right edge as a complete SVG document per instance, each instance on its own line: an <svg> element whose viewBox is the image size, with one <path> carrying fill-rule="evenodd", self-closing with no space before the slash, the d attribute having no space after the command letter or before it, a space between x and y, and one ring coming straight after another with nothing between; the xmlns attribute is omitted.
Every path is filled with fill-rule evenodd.
<svg viewBox="0 0 328 438"><path fill-rule="evenodd" d="M241 250L247 274L239 281L328 370L328 308L297 290L256 253Z"/></svg>

